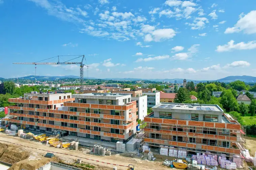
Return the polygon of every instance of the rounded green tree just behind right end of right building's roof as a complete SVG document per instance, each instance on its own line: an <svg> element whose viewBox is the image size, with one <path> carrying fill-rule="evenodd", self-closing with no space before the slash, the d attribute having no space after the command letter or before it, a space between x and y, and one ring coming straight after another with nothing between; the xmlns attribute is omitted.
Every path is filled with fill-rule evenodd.
<svg viewBox="0 0 256 170"><path fill-rule="evenodd" d="M226 111L236 111L237 101L232 93L232 90L228 89L222 92L220 103Z"/></svg>

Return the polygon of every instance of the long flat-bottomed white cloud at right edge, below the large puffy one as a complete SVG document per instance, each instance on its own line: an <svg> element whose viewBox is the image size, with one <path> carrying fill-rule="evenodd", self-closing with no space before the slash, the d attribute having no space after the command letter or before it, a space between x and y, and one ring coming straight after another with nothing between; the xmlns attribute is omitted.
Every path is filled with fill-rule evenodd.
<svg viewBox="0 0 256 170"><path fill-rule="evenodd" d="M254 49L256 48L256 41L249 41L248 43L240 42L237 44L234 44L233 40L230 40L225 45L218 45L217 50L218 52L224 52L224 51L231 51L231 50L248 50L248 49Z"/></svg>

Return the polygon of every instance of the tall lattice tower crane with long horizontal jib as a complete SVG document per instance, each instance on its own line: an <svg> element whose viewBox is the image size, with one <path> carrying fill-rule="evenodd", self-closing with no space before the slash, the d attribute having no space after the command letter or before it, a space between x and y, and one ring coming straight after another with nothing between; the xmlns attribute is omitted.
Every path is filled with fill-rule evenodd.
<svg viewBox="0 0 256 170"><path fill-rule="evenodd" d="M82 58L82 61L81 62L71 62L71 60L73 59L70 59L70 60L67 60L67 61L64 61L64 62L60 62L60 57L61 56L77 56L73 59L76 59L76 58ZM52 59L52 58L57 58L58 57L58 62L41 62L41 61L44 61L44 60L48 60L48 59ZM83 92L83 82L84 82L84 66L86 66L87 68L89 68L88 65L85 65L83 63L83 61L85 60L86 61L86 58L85 58L85 55L58 55L58 56L55 56L55 57L51 57L51 58L47 58L47 59L44 59L44 60L41 60L41 61L37 61L37 62L14 62L13 64L30 64L30 65L35 65L35 69L36 69L36 65L71 65L71 64L79 64L80 65L80 93ZM35 74L36 74L36 70L35 70Z"/></svg>

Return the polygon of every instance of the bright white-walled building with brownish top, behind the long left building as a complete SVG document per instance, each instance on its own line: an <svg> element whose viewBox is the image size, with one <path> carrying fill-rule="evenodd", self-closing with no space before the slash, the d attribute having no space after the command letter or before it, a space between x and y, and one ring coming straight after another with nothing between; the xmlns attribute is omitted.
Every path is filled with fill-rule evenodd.
<svg viewBox="0 0 256 170"><path fill-rule="evenodd" d="M138 108L138 119L143 120L147 116L148 104L147 95L142 95L142 90L115 90L112 93L129 93L131 94L131 99L136 100L136 105Z"/></svg>

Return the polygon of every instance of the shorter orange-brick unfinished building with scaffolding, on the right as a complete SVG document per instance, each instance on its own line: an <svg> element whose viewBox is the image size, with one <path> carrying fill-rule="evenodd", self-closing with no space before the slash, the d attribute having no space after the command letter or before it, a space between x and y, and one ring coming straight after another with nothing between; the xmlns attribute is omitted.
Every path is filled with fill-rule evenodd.
<svg viewBox="0 0 256 170"><path fill-rule="evenodd" d="M227 157L245 150L244 128L214 104L159 103L144 118L144 142L152 151L185 150L186 154L212 153ZM168 149L167 149L168 150Z"/></svg>

